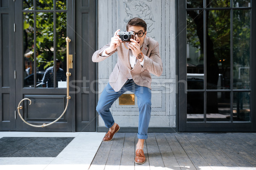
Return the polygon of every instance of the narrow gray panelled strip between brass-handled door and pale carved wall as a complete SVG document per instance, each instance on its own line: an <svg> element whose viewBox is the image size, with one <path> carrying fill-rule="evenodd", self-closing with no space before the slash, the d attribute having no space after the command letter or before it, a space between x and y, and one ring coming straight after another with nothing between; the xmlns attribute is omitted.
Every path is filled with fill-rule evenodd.
<svg viewBox="0 0 256 170"><path fill-rule="evenodd" d="M76 0L76 131L95 131L95 0Z"/></svg>

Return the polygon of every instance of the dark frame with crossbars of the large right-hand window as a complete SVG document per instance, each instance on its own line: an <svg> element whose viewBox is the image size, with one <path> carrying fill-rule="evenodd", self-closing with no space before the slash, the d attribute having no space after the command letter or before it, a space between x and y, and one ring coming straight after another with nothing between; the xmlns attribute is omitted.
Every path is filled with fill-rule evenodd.
<svg viewBox="0 0 256 170"><path fill-rule="evenodd" d="M230 6L233 6L233 0L230 0ZM208 132L208 131L256 131L256 116L255 116L255 105L256 102L256 68L253 67L256 64L256 49L252 48L256 46L256 3L251 2L251 7L241 7L241 8L186 8L186 0L179 0L177 2L177 74L178 74L178 131L179 132ZM206 20L206 10L231 10L230 14L230 26L233 26L233 9L251 9L250 18L250 90L236 90L233 89L233 71L230 71L230 85L232 87L226 90L209 90L206 89L206 81L204 81L203 90L187 90L186 89L186 11L187 10L203 10L204 11L204 22ZM232 28L232 27L231 27ZM204 57L206 57L206 26L204 24ZM230 29L230 55L233 56L233 30ZM233 57L230 57L230 68L233 70ZM206 76L206 59L204 59L204 74ZM187 92L204 92L204 122L187 122L187 103L186 96ZM209 91L221 91L221 92L231 92L230 93L230 109L233 109L233 93L232 92L250 92L250 121L249 122L233 122L233 112L231 111L230 122L207 122L206 121L206 93Z"/></svg>

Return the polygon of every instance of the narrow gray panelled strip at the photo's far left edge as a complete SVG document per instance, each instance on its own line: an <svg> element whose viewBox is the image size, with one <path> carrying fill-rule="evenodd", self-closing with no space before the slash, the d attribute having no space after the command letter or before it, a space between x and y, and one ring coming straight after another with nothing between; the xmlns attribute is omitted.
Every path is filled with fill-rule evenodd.
<svg viewBox="0 0 256 170"><path fill-rule="evenodd" d="M0 130L15 130L14 2L0 0Z"/></svg>

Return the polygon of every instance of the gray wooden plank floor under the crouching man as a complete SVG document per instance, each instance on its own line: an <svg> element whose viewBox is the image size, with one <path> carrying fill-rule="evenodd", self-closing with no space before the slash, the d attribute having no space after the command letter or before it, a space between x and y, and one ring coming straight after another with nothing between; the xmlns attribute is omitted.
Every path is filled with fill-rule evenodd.
<svg viewBox="0 0 256 170"><path fill-rule="evenodd" d="M116 133L89 170L256 170L256 133L149 133L142 165L136 143L136 133Z"/></svg>

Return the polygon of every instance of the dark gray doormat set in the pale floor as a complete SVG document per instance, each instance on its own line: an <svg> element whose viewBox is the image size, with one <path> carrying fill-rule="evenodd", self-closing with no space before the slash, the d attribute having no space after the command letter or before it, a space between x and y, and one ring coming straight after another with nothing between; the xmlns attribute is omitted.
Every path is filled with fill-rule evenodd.
<svg viewBox="0 0 256 170"><path fill-rule="evenodd" d="M3 137L0 157L56 157L72 137Z"/></svg>

